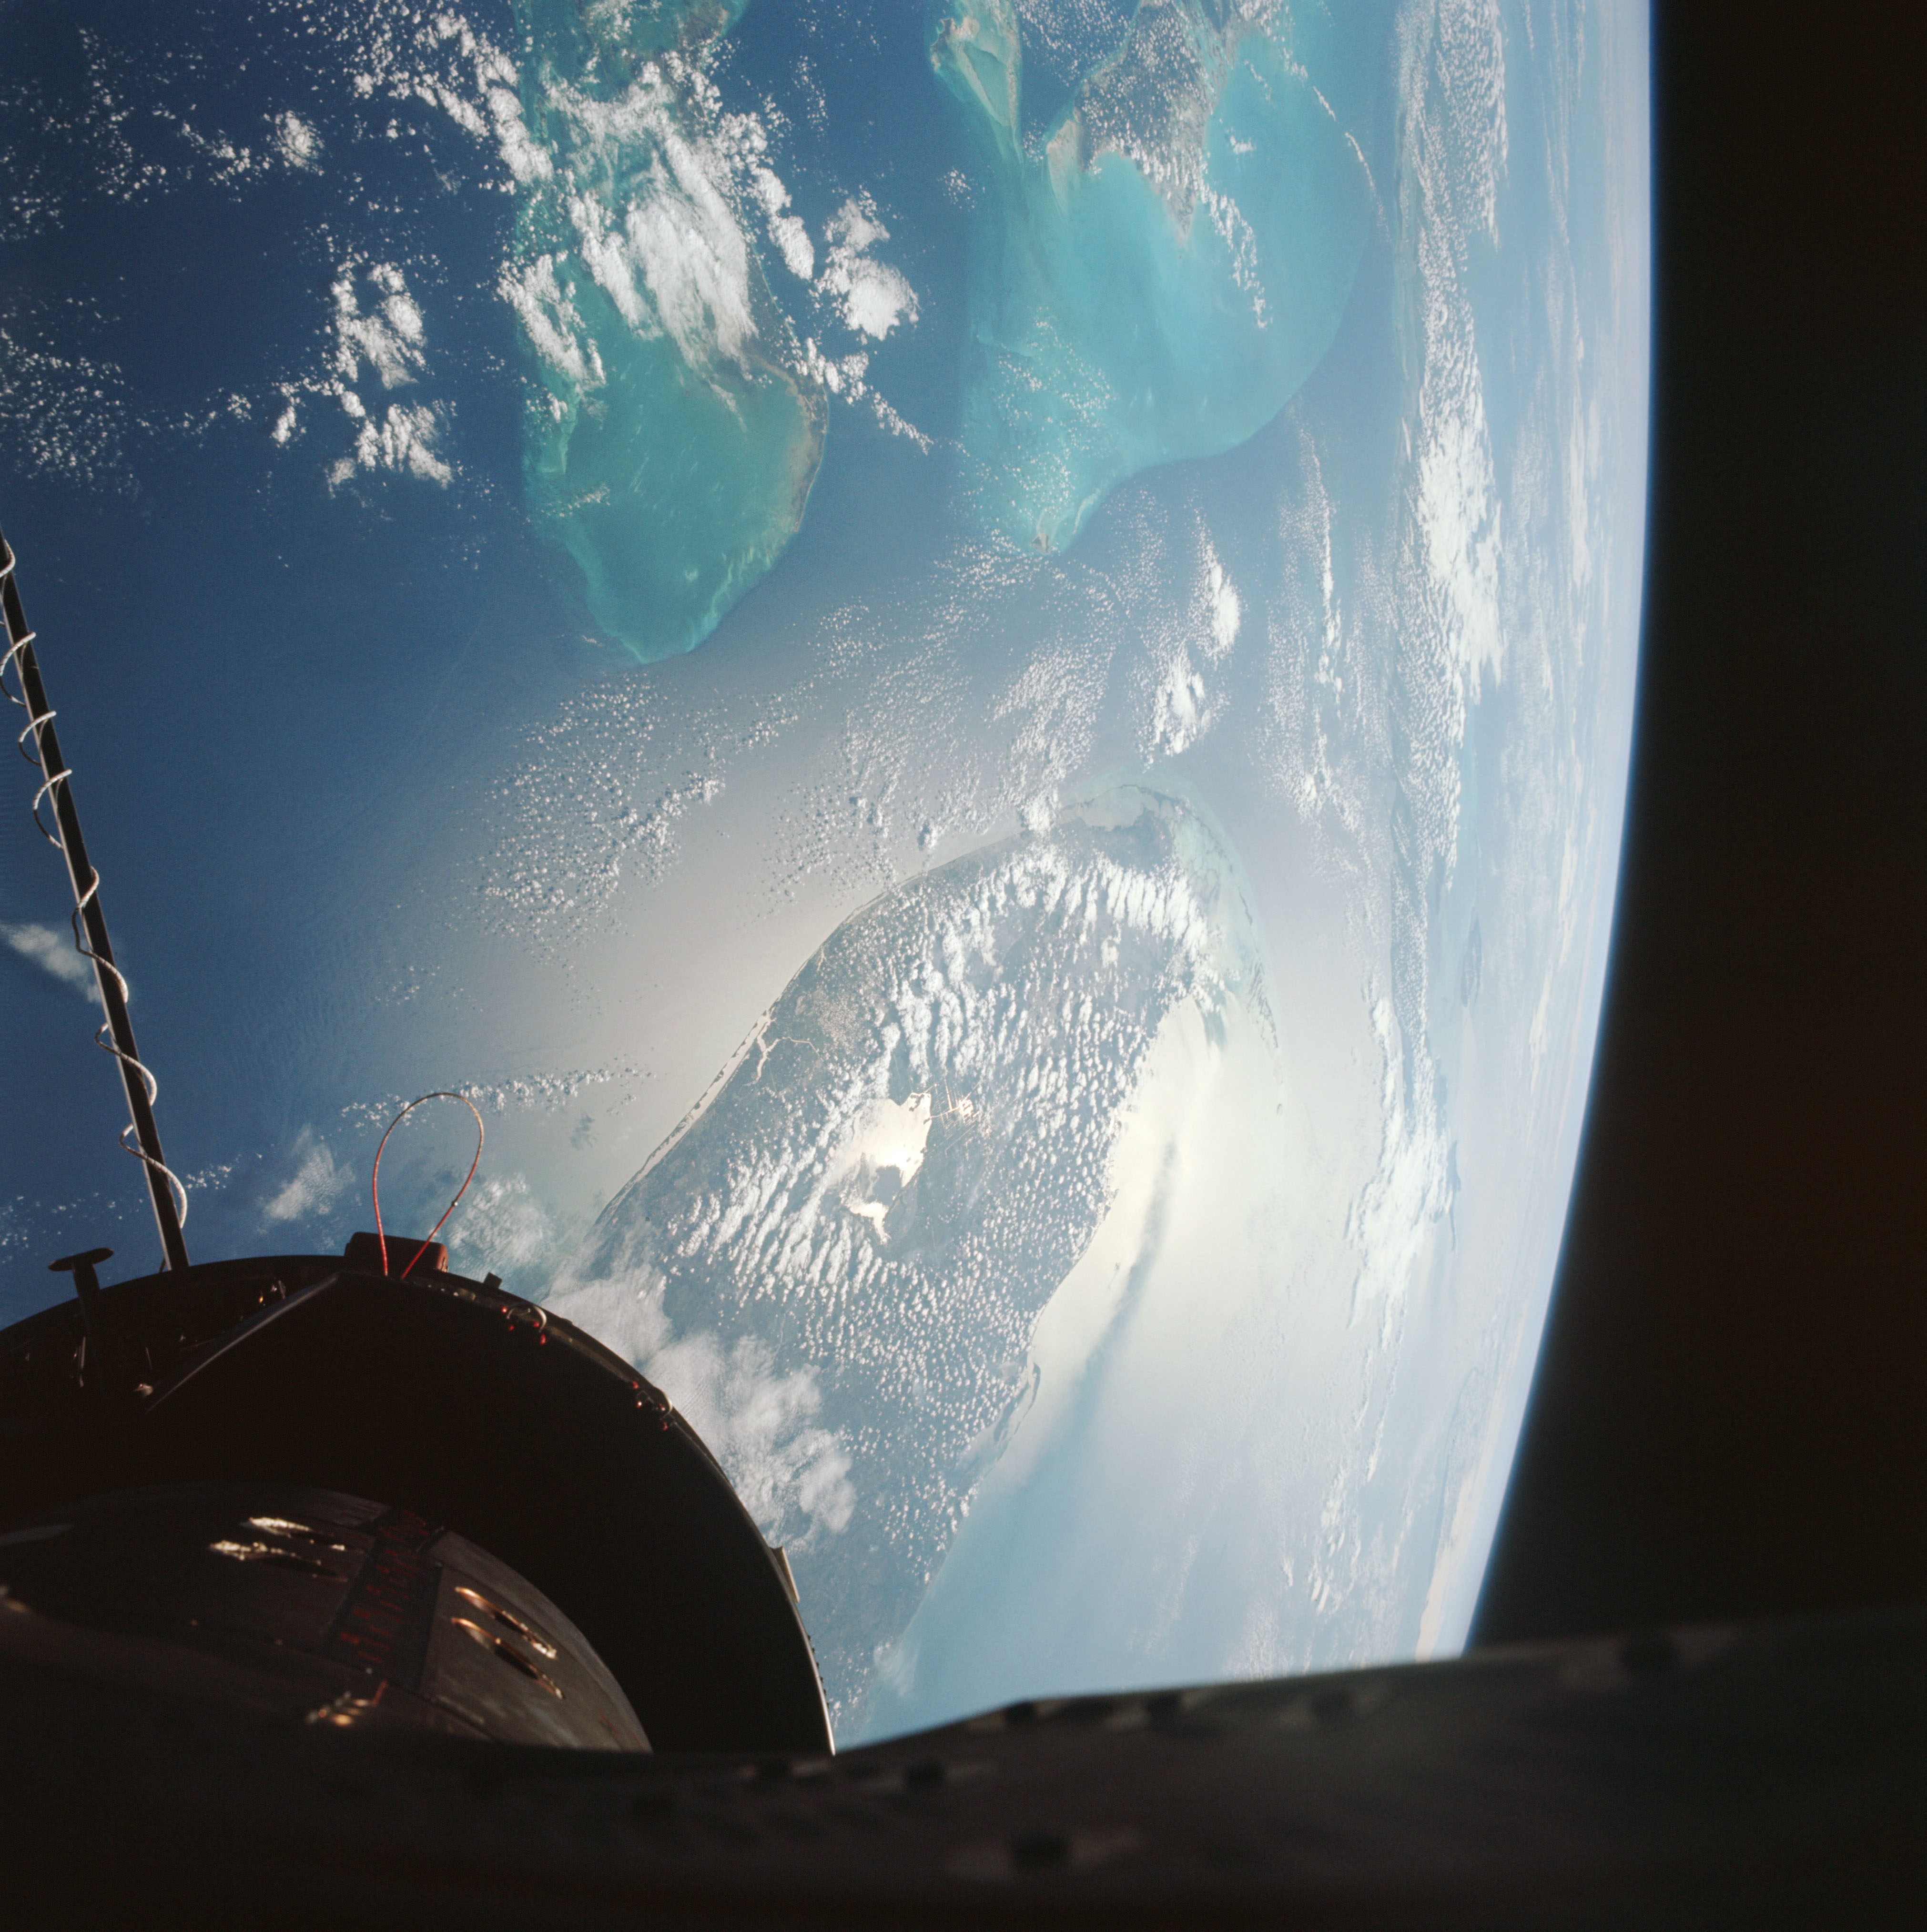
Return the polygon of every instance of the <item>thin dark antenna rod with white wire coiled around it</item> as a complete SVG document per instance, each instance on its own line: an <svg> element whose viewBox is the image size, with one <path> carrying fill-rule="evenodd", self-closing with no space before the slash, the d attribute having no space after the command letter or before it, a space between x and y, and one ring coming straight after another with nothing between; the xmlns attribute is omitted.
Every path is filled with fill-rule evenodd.
<svg viewBox="0 0 1927 1932"><path fill-rule="evenodd" d="M100 873L87 862L87 840L81 838L81 819L73 810L73 786L66 761L60 757L60 738L54 734L54 711L46 701L46 686L41 682L41 667L33 655L33 632L27 630L27 616L19 605L19 585L14 582L14 549L0 535L0 607L6 611L6 655L0 657L0 672L8 665L19 678L19 697L27 713L27 730L19 734L21 755L41 767L42 784L33 800L33 823L41 835L60 846L68 862L68 881L73 887L73 945L93 960L95 983L100 987L100 1010L106 1024L95 1036L98 1043L114 1055L120 1066L122 1086L127 1090L127 1113L133 1124L122 1130L120 1144L141 1163L147 1175L147 1192L154 1204L154 1223L160 1229L160 1250L168 1267L187 1265L187 1242L182 1236L182 1221L187 1219L187 1190L176 1179L160 1151L160 1128L154 1126L154 1076L141 1065L141 1055L133 1045L133 1022L127 1018L127 981L114 964L114 947L106 937L106 916L100 912ZM0 686L4 688L4 686ZM33 734L35 750L27 750L27 736ZM54 804L54 831L41 823L41 800ZM133 1134L129 1144L127 1134Z"/></svg>

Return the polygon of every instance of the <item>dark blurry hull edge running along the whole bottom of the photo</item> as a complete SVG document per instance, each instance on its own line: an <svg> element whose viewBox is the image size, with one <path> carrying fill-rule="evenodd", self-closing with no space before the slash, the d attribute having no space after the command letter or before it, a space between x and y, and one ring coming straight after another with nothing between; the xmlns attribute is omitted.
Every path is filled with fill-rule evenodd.
<svg viewBox="0 0 1927 1932"><path fill-rule="evenodd" d="M1019 1704L836 1758L236 1721L0 1613L0 1735L19 1922L1927 1922L1921 1613Z"/></svg>

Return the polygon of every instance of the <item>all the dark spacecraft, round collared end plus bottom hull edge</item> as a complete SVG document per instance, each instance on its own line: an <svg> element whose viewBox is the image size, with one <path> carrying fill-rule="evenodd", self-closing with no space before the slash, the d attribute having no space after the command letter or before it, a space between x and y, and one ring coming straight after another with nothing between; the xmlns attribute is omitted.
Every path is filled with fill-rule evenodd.
<svg viewBox="0 0 1927 1932"><path fill-rule="evenodd" d="M836 1756L788 1565L687 1422L396 1250L106 1289L97 1250L0 1333L17 1922L1927 1909L1927 1613L1014 1704Z"/></svg>

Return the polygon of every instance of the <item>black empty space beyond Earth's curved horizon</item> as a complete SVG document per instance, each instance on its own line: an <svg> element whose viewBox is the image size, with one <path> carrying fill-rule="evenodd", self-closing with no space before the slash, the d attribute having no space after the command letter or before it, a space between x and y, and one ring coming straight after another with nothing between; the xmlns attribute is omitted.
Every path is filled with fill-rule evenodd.
<svg viewBox="0 0 1927 1932"><path fill-rule="evenodd" d="M1653 31L1632 808L1475 1642L1927 1600L1919 29Z"/></svg>

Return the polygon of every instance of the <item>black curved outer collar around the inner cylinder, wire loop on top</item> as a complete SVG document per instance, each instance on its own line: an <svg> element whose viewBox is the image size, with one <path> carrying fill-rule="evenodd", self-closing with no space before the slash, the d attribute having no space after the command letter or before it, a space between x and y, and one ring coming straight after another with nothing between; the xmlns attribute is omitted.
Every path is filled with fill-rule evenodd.
<svg viewBox="0 0 1927 1932"><path fill-rule="evenodd" d="M0 1335L0 1530L154 1486L367 1497L560 1605L655 1748L828 1750L786 1567L668 1399L568 1321L326 1256L95 1293Z"/></svg>

